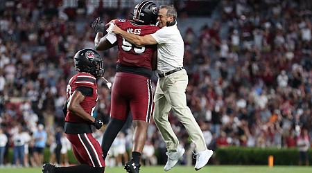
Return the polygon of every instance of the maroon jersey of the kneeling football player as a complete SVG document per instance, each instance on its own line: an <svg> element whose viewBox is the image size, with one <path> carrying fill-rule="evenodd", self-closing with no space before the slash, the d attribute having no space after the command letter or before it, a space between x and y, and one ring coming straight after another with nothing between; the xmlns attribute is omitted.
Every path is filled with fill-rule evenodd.
<svg viewBox="0 0 312 173"><path fill-rule="evenodd" d="M94 78L93 75L84 72L73 75L73 77L71 77L67 85L67 99L69 99L71 95L73 95L73 91L76 91L76 88L78 86L85 86L93 89L92 95L85 97L85 100L83 100L83 102L80 103L81 107L83 107L83 109L85 109L85 111L89 113L90 116L93 116L93 111L96 107L96 102L98 102L96 78ZM83 118L74 115L73 113L71 113L71 111L68 110L67 116L65 117L65 121L89 123L83 120Z"/></svg>

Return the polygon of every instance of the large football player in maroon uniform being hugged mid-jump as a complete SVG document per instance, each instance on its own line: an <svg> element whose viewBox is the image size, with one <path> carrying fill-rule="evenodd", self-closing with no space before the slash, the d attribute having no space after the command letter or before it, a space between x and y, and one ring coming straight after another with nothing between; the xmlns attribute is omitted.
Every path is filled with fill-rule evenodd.
<svg viewBox="0 0 312 173"><path fill-rule="evenodd" d="M159 30L155 26L157 6L151 1L142 1L135 6L133 19L119 19L115 24L137 35L148 35ZM132 113L134 126L132 158L125 163L127 172L139 172L141 152L146 142L148 123L153 115L153 88L150 80L152 71L157 67L157 46L136 46L126 39L116 36L111 44L104 36L104 24L96 19L92 28L96 31L94 44L96 50L104 51L118 46L119 55L116 63L116 75L112 86L110 122L103 134L103 156L107 156L114 138L121 131L128 115Z"/></svg>

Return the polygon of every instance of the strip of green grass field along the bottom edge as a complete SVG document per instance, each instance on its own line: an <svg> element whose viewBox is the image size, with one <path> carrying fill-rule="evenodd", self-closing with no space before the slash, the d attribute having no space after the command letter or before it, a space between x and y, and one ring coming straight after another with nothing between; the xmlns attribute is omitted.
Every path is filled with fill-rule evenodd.
<svg viewBox="0 0 312 173"><path fill-rule="evenodd" d="M40 173L42 169L37 168L0 168L0 173ZM142 166L141 173L165 173L163 166ZM176 166L168 173L312 173L312 167L304 166L242 166L242 165L207 165L196 171L193 167ZM86 172L87 173L87 172ZM92 172L90 172L92 173ZM125 173L122 167L106 167L105 173Z"/></svg>

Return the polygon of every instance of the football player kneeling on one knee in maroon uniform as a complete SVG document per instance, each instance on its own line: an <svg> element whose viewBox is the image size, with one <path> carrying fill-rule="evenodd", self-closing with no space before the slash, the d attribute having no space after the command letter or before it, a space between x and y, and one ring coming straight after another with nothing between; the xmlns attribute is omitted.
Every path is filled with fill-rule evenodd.
<svg viewBox="0 0 312 173"><path fill-rule="evenodd" d="M101 129L103 122L93 117L98 101L96 80L103 77L101 56L92 49L83 49L73 57L76 75L67 85L67 103L64 105L64 133L71 142L73 155L79 165L55 167L50 163L43 166L43 173L103 173L105 160L100 143L92 136L92 127Z"/></svg>

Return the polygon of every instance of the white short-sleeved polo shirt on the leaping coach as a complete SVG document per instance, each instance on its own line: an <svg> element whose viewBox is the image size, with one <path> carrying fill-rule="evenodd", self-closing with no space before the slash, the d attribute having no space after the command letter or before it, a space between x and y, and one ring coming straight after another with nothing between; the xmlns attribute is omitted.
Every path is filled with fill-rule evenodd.
<svg viewBox="0 0 312 173"><path fill-rule="evenodd" d="M164 26L151 35L158 43L157 73L166 73L177 67L182 67L184 42L180 30L177 29L177 24L169 27Z"/></svg>

